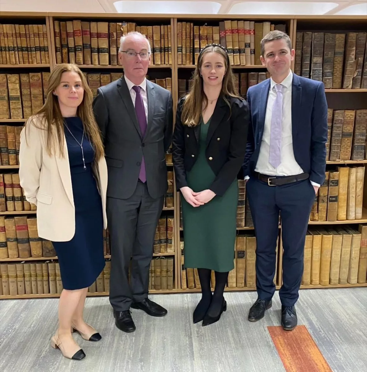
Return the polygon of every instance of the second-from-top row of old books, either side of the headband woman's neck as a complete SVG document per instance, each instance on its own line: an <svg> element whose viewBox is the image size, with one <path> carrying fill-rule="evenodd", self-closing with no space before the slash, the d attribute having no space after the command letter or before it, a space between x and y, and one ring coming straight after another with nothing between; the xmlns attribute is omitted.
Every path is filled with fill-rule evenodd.
<svg viewBox="0 0 367 372"><path fill-rule="evenodd" d="M268 72L233 73L236 93L246 99L248 88L270 78ZM178 79L178 97L189 93L193 79Z"/></svg>

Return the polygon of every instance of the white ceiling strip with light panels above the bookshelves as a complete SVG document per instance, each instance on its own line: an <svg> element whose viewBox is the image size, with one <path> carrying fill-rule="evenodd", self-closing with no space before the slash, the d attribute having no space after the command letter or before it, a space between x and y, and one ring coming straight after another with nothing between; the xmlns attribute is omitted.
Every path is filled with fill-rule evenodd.
<svg viewBox="0 0 367 372"><path fill-rule="evenodd" d="M367 15L366 0L0 0L4 12ZM367 18L366 18L367 21Z"/></svg>

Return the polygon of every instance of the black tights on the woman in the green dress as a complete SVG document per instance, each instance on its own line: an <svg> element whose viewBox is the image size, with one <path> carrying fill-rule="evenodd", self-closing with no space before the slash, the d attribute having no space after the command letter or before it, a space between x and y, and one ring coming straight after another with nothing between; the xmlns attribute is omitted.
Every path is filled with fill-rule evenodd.
<svg viewBox="0 0 367 372"><path fill-rule="evenodd" d="M228 279L227 272L215 271L215 288L212 296L212 289L210 288L210 276L212 270L210 269L197 269L200 279L200 286L202 291L201 303L203 307L209 308L208 315L215 317L219 314L223 304L224 288Z"/></svg>

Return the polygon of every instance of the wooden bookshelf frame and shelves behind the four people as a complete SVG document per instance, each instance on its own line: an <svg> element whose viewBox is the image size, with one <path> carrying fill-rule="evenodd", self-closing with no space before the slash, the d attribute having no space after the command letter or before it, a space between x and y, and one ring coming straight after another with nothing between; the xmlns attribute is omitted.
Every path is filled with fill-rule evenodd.
<svg viewBox="0 0 367 372"><path fill-rule="evenodd" d="M218 26L219 22L224 20L241 21L251 20L255 22L269 21L271 24L283 24L285 25L286 32L291 38L293 48L296 48L296 33L298 31L312 31L312 32L352 32L365 30L366 19L363 16L298 16L298 15L158 15L158 14L126 14L120 15L117 13L41 13L41 12L0 12L0 23L12 23L12 24L46 24L47 40L48 40L48 53L49 53L49 64L0 64L0 73L16 74L27 73L27 72L39 72L39 71L52 71L57 65L56 57L56 45L55 45L55 29L54 21L59 20L60 22L66 22L70 20L81 20L87 22L136 22L136 25L170 25L171 27L171 63L167 64L151 64L148 68L148 75L152 78L172 78L172 96L173 96L173 120L175 120L175 113L177 107L177 100L180 96L179 93L179 79L188 80L195 68L193 63L178 64L178 23L189 22L193 23L194 26ZM182 42L182 40L181 40ZM194 42L194 41L193 41ZM199 39L200 43L200 39ZM119 43L117 40L117 50ZM152 51L153 53L153 51ZM193 58L194 61L194 58ZM117 62L118 63L118 62ZM120 72L123 73L123 68L119 64L112 65L78 65L85 73L107 73L107 72ZM235 74L241 73L265 73L267 70L265 66L261 64L240 64L231 65ZM292 70L294 71L295 61L292 64ZM325 89L326 98L330 108L334 110L355 110L355 109L367 109L367 89ZM15 119L0 119L0 125L22 125L25 122L25 118ZM366 167L367 159L363 160L327 160L326 168L336 167L340 165L347 166L358 166L363 165ZM173 167L172 163L167 164L168 167ZM7 173L12 170L19 169L19 165L15 166L0 166L0 173ZM169 169L169 170L172 170ZM174 180L175 182L175 180ZM154 254L154 257L167 256L174 257L174 286L170 291L155 291L151 290L151 294L167 294L167 293L185 293L185 292L200 292L200 289L182 289L181 285L181 251L180 251L180 238L182 237L182 229L180 228L180 194L176 192L176 184L174 185L174 207L164 208L163 215L173 214L174 216L174 252L173 253L158 253ZM367 224L367 172L365 172L364 179L364 192L363 192L363 218L358 220L345 220L345 221L309 221L309 225L315 226L331 226L331 225L354 225ZM0 212L0 215L12 216L12 215L35 215L36 211L19 211L19 212ZM237 231L240 232L253 232L253 227L238 227ZM277 269L276 269L276 288L279 289L281 286L281 273L282 273L282 257L283 249L281 245L281 225L279 225L279 246L277 254ZM110 256L105 256L106 259L110 259ZM6 262L29 262L29 261L48 261L57 260L57 257L30 257L27 259L0 259L0 263ZM340 284L340 285L310 285L301 286L301 289L322 289L322 288L351 288L351 287L366 287L366 283L358 284ZM243 288L226 288L226 291L255 291L255 287L243 287ZM88 293L88 296L107 296L108 292L93 292ZM23 296L0 296L0 299L10 298L52 298L58 297L58 294L42 294L42 295L23 295Z"/></svg>

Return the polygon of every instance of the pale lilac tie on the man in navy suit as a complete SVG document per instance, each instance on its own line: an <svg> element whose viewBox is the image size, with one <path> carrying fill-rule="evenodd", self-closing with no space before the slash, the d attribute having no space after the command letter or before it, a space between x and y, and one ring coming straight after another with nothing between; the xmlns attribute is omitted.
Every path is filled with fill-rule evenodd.
<svg viewBox="0 0 367 372"><path fill-rule="evenodd" d="M269 163L274 167L279 167L280 160L280 145L281 145L281 109L283 105L283 86L276 84L275 90L277 97L274 101L273 111L271 113L271 129L270 129L270 151Z"/></svg>

